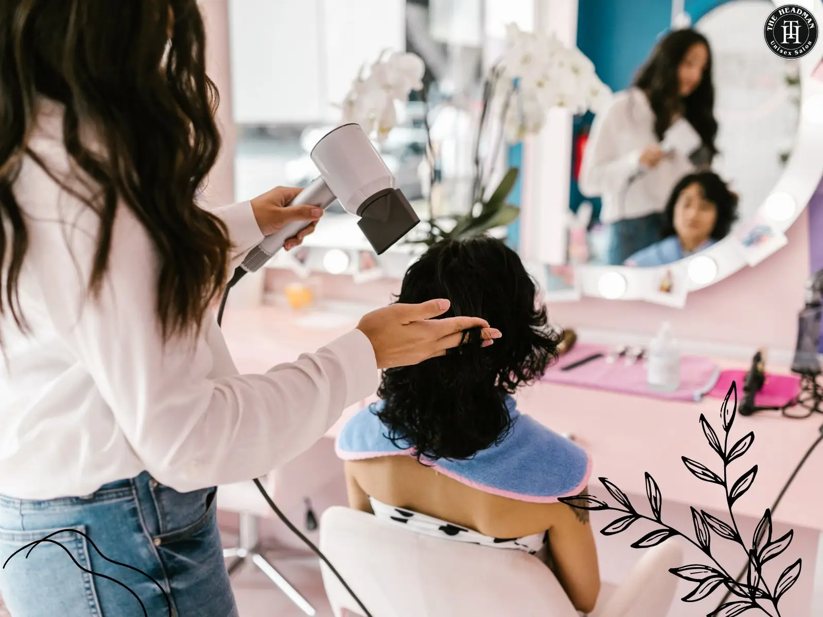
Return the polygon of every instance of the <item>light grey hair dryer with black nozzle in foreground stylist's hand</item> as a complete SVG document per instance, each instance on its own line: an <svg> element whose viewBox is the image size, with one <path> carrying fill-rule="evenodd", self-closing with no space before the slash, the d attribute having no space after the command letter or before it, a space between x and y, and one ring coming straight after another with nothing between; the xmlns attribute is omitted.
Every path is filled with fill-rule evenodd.
<svg viewBox="0 0 823 617"><path fill-rule="evenodd" d="M359 124L343 124L315 144L311 160L320 175L295 197L291 205L310 204L326 210L335 200L350 214L360 216L357 226L374 253L384 253L420 222L406 196L395 187L388 170ZM308 227L304 220L286 225L249 251L240 268L258 271L286 239ZM242 275L240 275L242 276Z"/></svg>

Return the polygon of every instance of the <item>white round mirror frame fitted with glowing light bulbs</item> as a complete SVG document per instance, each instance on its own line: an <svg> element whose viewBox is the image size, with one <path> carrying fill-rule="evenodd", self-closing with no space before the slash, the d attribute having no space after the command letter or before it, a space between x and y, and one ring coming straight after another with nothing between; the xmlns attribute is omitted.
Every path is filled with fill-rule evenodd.
<svg viewBox="0 0 823 617"><path fill-rule="evenodd" d="M783 4L779 0L771 0L771 2L775 7ZM819 2L815 3L815 10L810 12L816 17L818 23L821 23ZM775 230L783 234L801 216L802 211L808 205L818 184L821 182L821 175L823 175L823 80L812 77L812 72L814 72L818 63L821 63L821 58L823 58L823 41L818 41L810 53L798 60L800 64L801 111L797 126L797 140L783 169L783 174L770 195L756 210L755 216L764 217L774 226ZM570 143L568 146L570 157ZM792 200L794 203L792 216L784 220L769 216L770 203L774 203L773 200L781 199ZM744 223L746 220L751 219L745 219ZM776 245L771 248L767 256L783 248L783 245ZM710 281L695 281L688 274L690 263L697 258L704 257L709 257L714 261L717 266L717 273ZM686 281L688 281L688 293L723 281L726 277L749 265L746 262L739 241L732 234L729 234L726 238L718 241L717 244L700 251L700 253L665 267L647 268L591 264L579 264L570 267L574 269L574 286L578 292L578 297L579 295L586 295L603 299L644 300L658 303L658 300L652 299L653 290L657 289L659 281L667 270L684 272ZM754 265L756 264L751 267L754 267ZM607 278L604 279L604 276ZM620 295L604 294L600 289L602 282L610 279L617 280L618 277L625 281L625 285L617 285L618 287L624 287L623 293ZM546 291L545 299L548 301L569 301L576 299L576 297L574 293L570 294L570 290L559 290Z"/></svg>

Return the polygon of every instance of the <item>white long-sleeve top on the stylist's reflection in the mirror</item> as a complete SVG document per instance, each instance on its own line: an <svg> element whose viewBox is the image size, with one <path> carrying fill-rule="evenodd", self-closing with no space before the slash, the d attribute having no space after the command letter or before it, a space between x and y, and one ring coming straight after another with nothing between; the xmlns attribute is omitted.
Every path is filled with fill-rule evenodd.
<svg viewBox="0 0 823 617"><path fill-rule="evenodd" d="M695 166L672 152L648 169L640 155L659 143L654 112L639 88L616 93L611 104L594 117L580 165L580 193L601 197L603 223L662 212L672 189Z"/></svg>

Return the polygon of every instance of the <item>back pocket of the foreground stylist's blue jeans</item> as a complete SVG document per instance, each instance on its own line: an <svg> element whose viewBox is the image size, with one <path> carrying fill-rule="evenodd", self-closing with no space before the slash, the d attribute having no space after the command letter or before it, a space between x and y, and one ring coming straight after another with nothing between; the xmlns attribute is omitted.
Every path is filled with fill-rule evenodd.
<svg viewBox="0 0 823 617"><path fill-rule="evenodd" d="M86 526L0 529L0 595L21 617L100 617ZM43 541L40 541L43 540Z"/></svg>

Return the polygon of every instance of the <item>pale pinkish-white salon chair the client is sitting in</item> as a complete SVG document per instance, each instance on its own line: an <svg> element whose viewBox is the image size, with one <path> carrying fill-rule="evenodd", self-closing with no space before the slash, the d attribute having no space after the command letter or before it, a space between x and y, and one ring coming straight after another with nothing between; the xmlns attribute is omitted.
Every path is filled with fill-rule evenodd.
<svg viewBox="0 0 823 617"><path fill-rule="evenodd" d="M374 617L579 617L551 570L523 551L421 536L340 507L323 513L320 548ZM673 540L645 551L620 587L604 589L590 615L665 617L677 587L668 568L682 564ZM322 568L335 617L362 617Z"/></svg>

